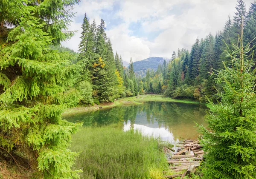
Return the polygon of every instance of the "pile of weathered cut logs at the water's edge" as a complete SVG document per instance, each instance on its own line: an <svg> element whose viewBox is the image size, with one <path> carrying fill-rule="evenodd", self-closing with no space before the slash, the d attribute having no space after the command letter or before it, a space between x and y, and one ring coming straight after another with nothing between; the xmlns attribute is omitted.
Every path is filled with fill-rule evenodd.
<svg viewBox="0 0 256 179"><path fill-rule="evenodd" d="M191 173L195 173L195 168L204 159L203 147L198 140L184 140L179 144L181 147L178 147L177 153L172 156L172 159L167 161L170 164L169 171L175 174L165 176L166 178L172 179L181 176L180 178L183 179L186 175L190 177ZM181 173L184 170L186 171ZM164 173L169 171L164 171Z"/></svg>

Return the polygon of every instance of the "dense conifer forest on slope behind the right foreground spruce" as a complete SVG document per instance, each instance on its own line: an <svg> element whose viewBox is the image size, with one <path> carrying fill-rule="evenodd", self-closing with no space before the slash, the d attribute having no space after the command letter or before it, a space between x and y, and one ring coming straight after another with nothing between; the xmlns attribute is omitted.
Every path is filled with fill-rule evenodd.
<svg viewBox="0 0 256 179"><path fill-rule="evenodd" d="M247 11L244 1L239 0L235 15L227 17L222 31L208 34L201 39L198 37L191 51L186 48L178 49L177 55L174 51L172 60L165 60L155 73L148 70L146 76L140 78L144 91L173 98L191 98L201 102L207 101L207 97L216 100L215 94L222 88L215 85L212 74L218 74L218 71L224 69L224 65L230 67L226 51L234 49L232 43L238 43L241 17L244 17L244 45L250 44L252 54L256 48L256 41L252 41L256 37L256 2L251 3ZM252 58L256 59L255 53ZM256 64L253 62L253 68L255 67Z"/></svg>

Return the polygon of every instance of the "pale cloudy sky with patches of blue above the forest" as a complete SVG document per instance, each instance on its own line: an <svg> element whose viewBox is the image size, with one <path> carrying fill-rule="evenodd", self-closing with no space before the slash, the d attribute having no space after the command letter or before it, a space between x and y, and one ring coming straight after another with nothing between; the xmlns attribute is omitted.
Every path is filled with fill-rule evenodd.
<svg viewBox="0 0 256 179"><path fill-rule="evenodd" d="M244 0L246 8L254 0ZM188 48L196 37L222 30L233 16L236 0L80 0L70 30L76 35L62 43L75 51L81 36L84 13L90 22L105 20L114 53L125 62L148 57L171 57L177 48ZM127 64L127 63L126 63Z"/></svg>

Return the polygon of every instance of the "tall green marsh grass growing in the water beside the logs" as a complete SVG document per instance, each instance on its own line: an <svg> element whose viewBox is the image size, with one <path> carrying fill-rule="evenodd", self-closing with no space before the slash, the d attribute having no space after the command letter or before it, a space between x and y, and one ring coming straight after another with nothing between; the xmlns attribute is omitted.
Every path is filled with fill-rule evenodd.
<svg viewBox="0 0 256 179"><path fill-rule="evenodd" d="M124 132L122 125L81 128L71 150L81 151L74 166L83 170L81 179L159 179L154 173L166 167L157 140Z"/></svg>

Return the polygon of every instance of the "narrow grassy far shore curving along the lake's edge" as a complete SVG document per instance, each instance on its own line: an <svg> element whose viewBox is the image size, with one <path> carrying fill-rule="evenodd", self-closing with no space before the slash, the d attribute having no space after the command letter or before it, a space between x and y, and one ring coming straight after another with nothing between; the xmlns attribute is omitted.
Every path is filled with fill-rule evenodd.
<svg viewBox="0 0 256 179"><path fill-rule="evenodd" d="M103 102L100 105L94 104L88 105L88 106L77 106L74 108L68 108L62 115L69 115L69 114L76 114L80 112L85 111L93 111L93 110L99 110L100 107L102 108L113 108L115 106L119 105L140 105L143 102L147 101L159 101L159 102L183 102L183 103L189 103L189 104L201 104L200 102L193 101L191 99L172 99L169 97L164 97L163 95L159 94L146 94L146 95L139 95L137 97L126 97L126 98L120 98L117 99L114 102Z"/></svg>

